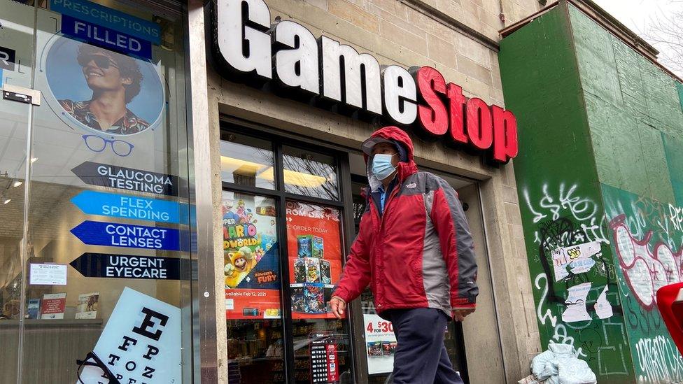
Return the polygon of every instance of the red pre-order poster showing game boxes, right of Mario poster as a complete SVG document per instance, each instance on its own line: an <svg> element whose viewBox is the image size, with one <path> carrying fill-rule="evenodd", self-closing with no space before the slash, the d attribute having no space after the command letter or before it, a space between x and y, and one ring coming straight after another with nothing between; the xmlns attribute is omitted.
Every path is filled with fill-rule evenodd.
<svg viewBox="0 0 683 384"><path fill-rule="evenodd" d="M339 210L295 201L286 210L292 318L335 318L330 298L342 274Z"/></svg>

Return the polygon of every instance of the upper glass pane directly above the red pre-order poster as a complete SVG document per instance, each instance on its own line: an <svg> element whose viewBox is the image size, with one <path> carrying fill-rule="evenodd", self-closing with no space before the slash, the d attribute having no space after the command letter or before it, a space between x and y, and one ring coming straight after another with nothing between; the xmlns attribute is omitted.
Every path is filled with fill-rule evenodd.
<svg viewBox="0 0 683 384"><path fill-rule="evenodd" d="M287 192L319 199L339 199L334 157L285 146L282 161Z"/></svg>

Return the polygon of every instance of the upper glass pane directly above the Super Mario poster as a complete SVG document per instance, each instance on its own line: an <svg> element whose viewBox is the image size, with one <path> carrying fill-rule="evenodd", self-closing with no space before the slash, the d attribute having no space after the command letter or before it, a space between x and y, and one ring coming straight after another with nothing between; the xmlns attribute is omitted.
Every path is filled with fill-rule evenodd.
<svg viewBox="0 0 683 384"><path fill-rule="evenodd" d="M226 183L275 188L273 151L269 141L225 134L220 142L221 177Z"/></svg>

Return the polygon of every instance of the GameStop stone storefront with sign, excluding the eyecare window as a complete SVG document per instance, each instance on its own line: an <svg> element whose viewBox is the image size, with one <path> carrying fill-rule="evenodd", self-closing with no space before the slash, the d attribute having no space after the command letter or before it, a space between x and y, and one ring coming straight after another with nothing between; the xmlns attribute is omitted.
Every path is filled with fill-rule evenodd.
<svg viewBox="0 0 683 384"><path fill-rule="evenodd" d="M512 17L505 8L512 4L501 10L493 3L473 8L502 25L497 17ZM372 295L365 292L342 320L325 308L365 208L360 143L383 125L409 131L418 165L448 180L467 206L481 293L477 312L449 327L453 364L470 383L527 376L540 346L530 283L522 278L528 271L519 263L526 250L508 162L516 155L514 111L502 108L491 17L465 17L471 14L451 6L190 7L190 57L208 62L191 68L199 76L193 89L207 85L206 100L193 92L193 110L207 111L194 126L209 127L195 146L211 149L202 154L213 176L206 214L218 229L199 242L224 255L199 262L200 276L216 279L209 287L216 296L202 300L200 311L218 339L209 376L229 383L386 381L394 340ZM253 226L251 234L240 236L236 222ZM240 241L254 241L262 254L246 270Z"/></svg>

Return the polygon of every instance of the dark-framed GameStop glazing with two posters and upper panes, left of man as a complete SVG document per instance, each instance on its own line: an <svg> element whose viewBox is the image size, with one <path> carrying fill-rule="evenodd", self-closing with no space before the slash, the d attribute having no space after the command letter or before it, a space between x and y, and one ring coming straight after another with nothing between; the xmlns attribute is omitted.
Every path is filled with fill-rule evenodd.
<svg viewBox="0 0 683 384"><path fill-rule="evenodd" d="M249 133L221 135L231 383L351 383L348 319L329 308L346 249L344 152Z"/></svg>

